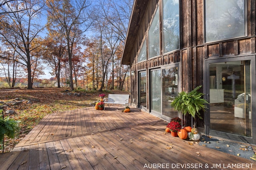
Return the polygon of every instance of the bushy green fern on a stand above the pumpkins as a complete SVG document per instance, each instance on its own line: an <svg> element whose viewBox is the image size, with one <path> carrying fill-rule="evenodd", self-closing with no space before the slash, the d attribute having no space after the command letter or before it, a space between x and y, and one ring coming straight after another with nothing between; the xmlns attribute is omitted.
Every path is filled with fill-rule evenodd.
<svg viewBox="0 0 256 170"><path fill-rule="evenodd" d="M180 111L183 115L188 113L192 115L192 118L195 118L197 115L202 119L199 111L205 111L205 109L207 109L206 104L208 104L208 102L202 98L204 94L198 92L201 87L202 86L197 86L194 90L188 93L184 91L180 92L171 103L171 106Z"/></svg>

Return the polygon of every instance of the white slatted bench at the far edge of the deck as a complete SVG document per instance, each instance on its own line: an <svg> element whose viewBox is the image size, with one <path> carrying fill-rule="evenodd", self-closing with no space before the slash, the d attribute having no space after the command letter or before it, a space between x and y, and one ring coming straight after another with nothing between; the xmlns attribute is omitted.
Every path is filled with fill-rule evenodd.
<svg viewBox="0 0 256 170"><path fill-rule="evenodd" d="M129 96L129 94L108 94L108 98L104 98L104 103L108 104L108 107L109 104L124 104L126 107L126 104L129 106Z"/></svg>

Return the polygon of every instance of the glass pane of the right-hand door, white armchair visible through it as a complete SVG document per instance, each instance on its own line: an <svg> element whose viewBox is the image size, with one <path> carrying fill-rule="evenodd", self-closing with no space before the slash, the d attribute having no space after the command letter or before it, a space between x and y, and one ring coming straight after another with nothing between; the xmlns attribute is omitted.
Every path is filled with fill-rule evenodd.
<svg viewBox="0 0 256 170"><path fill-rule="evenodd" d="M252 137L251 63L210 64L210 128Z"/></svg>

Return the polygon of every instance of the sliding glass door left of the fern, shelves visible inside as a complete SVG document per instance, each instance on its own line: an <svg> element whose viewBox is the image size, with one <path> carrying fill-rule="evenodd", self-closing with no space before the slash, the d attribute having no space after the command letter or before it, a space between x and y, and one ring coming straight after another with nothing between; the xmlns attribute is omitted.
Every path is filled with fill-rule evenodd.
<svg viewBox="0 0 256 170"><path fill-rule="evenodd" d="M177 117L171 103L179 92L178 64L150 70L150 111L159 117Z"/></svg>

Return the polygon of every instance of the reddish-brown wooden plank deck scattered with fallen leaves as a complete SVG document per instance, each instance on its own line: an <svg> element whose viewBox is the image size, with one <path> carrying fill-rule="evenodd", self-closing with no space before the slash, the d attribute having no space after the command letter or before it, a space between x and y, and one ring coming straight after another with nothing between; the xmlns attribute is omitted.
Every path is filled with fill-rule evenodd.
<svg viewBox="0 0 256 170"><path fill-rule="evenodd" d="M256 169L253 160L165 134L167 122L158 117L122 109L88 107L46 115L13 152L0 154L0 169Z"/></svg>

